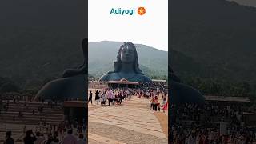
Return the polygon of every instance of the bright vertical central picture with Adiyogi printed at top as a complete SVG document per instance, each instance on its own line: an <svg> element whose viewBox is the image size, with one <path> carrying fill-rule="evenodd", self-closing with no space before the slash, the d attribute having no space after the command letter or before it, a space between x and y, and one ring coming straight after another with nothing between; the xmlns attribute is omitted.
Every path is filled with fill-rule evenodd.
<svg viewBox="0 0 256 144"><path fill-rule="evenodd" d="M89 143L168 143L167 3L89 1Z"/></svg>

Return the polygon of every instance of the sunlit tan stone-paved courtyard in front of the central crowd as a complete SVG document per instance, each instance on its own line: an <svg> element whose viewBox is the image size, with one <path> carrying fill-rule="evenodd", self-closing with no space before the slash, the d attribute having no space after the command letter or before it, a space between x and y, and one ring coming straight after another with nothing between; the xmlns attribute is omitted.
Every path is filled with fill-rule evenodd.
<svg viewBox="0 0 256 144"><path fill-rule="evenodd" d="M150 110L149 102L134 96L121 106L89 104L89 143L168 143L168 112Z"/></svg>

